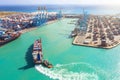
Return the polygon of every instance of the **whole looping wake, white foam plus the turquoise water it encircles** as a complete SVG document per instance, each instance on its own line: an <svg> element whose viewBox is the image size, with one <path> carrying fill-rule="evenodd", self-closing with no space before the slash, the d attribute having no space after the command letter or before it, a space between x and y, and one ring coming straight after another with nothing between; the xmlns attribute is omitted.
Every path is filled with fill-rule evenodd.
<svg viewBox="0 0 120 80"><path fill-rule="evenodd" d="M86 68L86 66L89 66L89 68L85 70L84 68ZM94 67L85 63L57 64L52 69L36 65L35 68L40 73L55 80L99 80L99 73L95 72L98 70L94 70Z"/></svg>

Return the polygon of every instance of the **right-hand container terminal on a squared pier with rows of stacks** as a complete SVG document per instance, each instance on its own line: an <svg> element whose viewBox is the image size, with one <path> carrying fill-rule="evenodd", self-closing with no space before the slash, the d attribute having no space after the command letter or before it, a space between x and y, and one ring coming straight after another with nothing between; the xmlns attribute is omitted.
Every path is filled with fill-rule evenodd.
<svg viewBox="0 0 120 80"><path fill-rule="evenodd" d="M78 19L71 36L73 44L113 48L120 43L120 19L108 15L86 15Z"/></svg>

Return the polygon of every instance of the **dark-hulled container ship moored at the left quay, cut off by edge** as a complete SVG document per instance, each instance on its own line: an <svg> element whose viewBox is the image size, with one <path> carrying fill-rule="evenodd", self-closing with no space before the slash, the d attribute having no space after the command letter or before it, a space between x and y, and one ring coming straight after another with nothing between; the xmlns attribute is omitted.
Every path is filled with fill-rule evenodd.
<svg viewBox="0 0 120 80"><path fill-rule="evenodd" d="M21 35L21 33L19 33L19 32L8 33L8 34L9 35L0 36L0 46L17 39Z"/></svg>

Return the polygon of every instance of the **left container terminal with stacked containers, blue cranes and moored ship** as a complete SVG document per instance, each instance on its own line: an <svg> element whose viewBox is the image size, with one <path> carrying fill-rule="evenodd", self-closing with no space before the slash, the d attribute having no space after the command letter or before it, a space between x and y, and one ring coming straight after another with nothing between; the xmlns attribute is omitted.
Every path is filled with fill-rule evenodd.
<svg viewBox="0 0 120 80"><path fill-rule="evenodd" d="M38 7L38 11L33 13L1 12L0 14L0 46L17 39L20 33L26 32L24 30L28 28L49 24L62 17L61 11L47 12L44 6Z"/></svg>

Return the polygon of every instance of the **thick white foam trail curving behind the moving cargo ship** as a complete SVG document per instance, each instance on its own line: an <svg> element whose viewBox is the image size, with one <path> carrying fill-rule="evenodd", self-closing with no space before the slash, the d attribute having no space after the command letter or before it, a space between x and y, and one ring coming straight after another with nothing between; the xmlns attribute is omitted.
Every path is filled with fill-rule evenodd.
<svg viewBox="0 0 120 80"><path fill-rule="evenodd" d="M98 80L98 76L95 73L85 72L73 72L68 71L65 68L59 68L57 65L54 69L48 69L41 65L36 65L35 68L42 74L49 76L51 79L58 80ZM63 66L63 65L62 65Z"/></svg>

